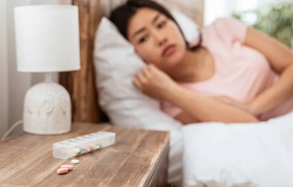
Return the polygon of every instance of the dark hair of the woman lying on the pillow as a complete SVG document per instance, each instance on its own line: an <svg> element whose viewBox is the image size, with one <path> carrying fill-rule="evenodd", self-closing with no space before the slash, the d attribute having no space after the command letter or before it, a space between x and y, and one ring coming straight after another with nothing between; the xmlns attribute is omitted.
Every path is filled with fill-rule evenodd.
<svg viewBox="0 0 293 187"><path fill-rule="evenodd" d="M125 38L127 38L128 21L136 13L136 9L141 7L148 7L164 14L168 19L174 21L177 24L182 36L184 37L184 34L180 26L178 25L177 21L173 18L170 12L166 8L164 8L162 5L152 0L127 0L126 4L121 5L117 7L116 9L114 9L110 15L110 21L112 21L118 27L120 33ZM199 35L199 37L200 37L199 43L196 46L191 48L188 47L188 42L185 39L188 50L196 50L201 45L201 42L202 42L201 34Z"/></svg>

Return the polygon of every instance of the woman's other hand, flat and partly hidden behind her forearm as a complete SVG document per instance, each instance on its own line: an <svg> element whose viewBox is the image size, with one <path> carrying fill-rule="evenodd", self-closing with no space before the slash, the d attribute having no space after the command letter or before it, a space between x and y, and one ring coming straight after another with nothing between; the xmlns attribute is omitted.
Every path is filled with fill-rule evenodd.
<svg viewBox="0 0 293 187"><path fill-rule="evenodd" d="M220 101L222 103L225 103L225 104L230 104L234 107L237 107L239 109L242 109L246 112L249 112L251 113L253 116L258 116L259 113L254 110L254 108L250 105L250 104L246 104L244 102L240 102L240 101L236 101L230 97L227 97L227 96L215 96L215 97L212 97L214 99L216 99L217 101Z"/></svg>

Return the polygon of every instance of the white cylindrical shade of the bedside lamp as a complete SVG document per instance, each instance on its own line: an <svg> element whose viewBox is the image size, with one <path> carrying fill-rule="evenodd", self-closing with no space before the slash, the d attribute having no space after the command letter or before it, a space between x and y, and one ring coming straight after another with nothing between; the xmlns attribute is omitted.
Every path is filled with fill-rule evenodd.
<svg viewBox="0 0 293 187"><path fill-rule="evenodd" d="M77 6L20 6L14 9L14 17L18 71L80 69Z"/></svg>

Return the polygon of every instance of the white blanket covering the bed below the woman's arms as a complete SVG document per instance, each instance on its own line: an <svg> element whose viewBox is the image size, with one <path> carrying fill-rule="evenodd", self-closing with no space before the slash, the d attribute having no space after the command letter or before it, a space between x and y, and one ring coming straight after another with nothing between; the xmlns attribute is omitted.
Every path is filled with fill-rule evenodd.
<svg viewBox="0 0 293 187"><path fill-rule="evenodd" d="M213 181L218 186L212 187L293 187L293 113L267 122L201 123L182 130L183 186Z"/></svg>

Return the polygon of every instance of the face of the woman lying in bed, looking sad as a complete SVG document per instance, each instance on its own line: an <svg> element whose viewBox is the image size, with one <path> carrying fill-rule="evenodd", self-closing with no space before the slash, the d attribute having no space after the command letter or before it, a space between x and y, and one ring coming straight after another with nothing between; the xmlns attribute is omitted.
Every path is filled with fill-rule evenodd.
<svg viewBox="0 0 293 187"><path fill-rule="evenodd" d="M163 71L181 62L187 51L176 23L151 8L137 9L128 23L127 39L146 63Z"/></svg>

